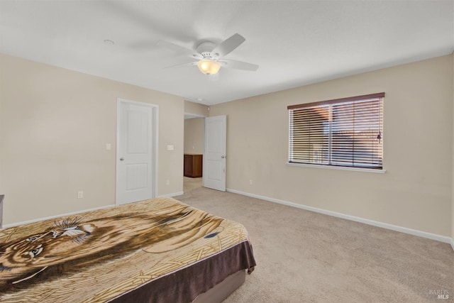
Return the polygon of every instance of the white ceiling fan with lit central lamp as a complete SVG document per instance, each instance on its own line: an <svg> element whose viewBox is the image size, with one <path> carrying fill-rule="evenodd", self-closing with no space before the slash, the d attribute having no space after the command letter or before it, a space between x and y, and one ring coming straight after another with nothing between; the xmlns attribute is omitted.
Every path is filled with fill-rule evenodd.
<svg viewBox="0 0 454 303"><path fill-rule="evenodd" d="M236 70L250 70L255 72L256 70L258 70L258 65L223 58L233 50L238 48L238 46L240 46L241 43L243 43L245 40L246 39L242 35L236 33L230 38L223 40L223 42L219 43L218 45L216 45L216 43L214 42L204 40L196 46L195 50L184 48L183 46L164 40L159 40L157 42L157 45L162 48L168 48L170 50L174 50L177 53L189 55L189 57L197 59L194 62L173 65L170 67L196 65L197 67L199 67L200 72L204 73L205 75L216 75L221 67L228 67Z"/></svg>

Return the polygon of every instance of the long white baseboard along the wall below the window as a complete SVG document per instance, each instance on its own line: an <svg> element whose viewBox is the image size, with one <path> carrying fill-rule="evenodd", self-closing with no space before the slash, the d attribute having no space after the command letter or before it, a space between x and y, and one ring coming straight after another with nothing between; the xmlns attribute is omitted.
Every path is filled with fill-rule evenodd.
<svg viewBox="0 0 454 303"><path fill-rule="evenodd" d="M450 243L450 245L453 247L453 250L454 250L454 240L453 240L453 238L450 238L450 237L447 237L447 236L437 235L436 233L427 233L426 231L418 231L416 229L406 228L406 227L392 225L392 224L387 224L387 223L383 223L383 222L379 222L379 221L373 221L373 220L369 220L369 219L364 219L364 218L360 218L358 216L350 216L348 214L341 214L341 213L338 213L336 211L328 211L326 209L319 209L319 208L316 208L316 207L306 206L306 205L302 205L302 204L297 204L297 203L294 203L294 202L287 202L287 201L284 201L284 200L279 200L279 199L275 199L275 198L260 196L259 194L250 194L248 192L241 192L241 191L236 190L236 189L228 188L226 190L227 190L227 192L233 192L234 194L242 194L243 196L253 197L253 198L257 198L257 199L262 199L262 200L265 200L265 201L268 201L268 202L275 202L275 203L284 204L284 205L287 205L287 206L293 206L293 207L297 207L299 209L305 209L307 211L314 211L314 212L317 212L319 214L327 214L328 216L336 216L338 218L347 219L347 220L350 220L350 221L356 221L356 222L360 222L360 223L363 223L363 224L368 224L368 225L372 225L372 226L377 226L377 227L391 229L392 231L400 231L401 233L409 233L410 235L413 235L413 236L419 236L419 237L422 237L422 238L429 238L429 239L440 241L440 242L443 242L443 243Z"/></svg>

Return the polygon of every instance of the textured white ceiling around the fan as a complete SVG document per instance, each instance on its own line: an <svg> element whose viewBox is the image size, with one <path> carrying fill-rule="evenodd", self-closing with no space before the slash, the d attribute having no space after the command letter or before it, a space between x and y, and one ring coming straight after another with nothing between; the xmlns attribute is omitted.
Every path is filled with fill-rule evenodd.
<svg viewBox="0 0 454 303"><path fill-rule="evenodd" d="M234 33L216 82L157 46ZM107 45L105 39L113 40ZM0 53L216 104L453 52L454 1L0 1Z"/></svg>

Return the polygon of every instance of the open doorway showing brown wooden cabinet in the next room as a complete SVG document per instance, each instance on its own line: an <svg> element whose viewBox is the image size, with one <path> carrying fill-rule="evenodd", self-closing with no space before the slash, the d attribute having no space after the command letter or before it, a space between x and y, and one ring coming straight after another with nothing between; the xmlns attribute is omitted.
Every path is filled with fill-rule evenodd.
<svg viewBox="0 0 454 303"><path fill-rule="evenodd" d="M184 115L184 192L190 192L203 185L204 128L203 116Z"/></svg>

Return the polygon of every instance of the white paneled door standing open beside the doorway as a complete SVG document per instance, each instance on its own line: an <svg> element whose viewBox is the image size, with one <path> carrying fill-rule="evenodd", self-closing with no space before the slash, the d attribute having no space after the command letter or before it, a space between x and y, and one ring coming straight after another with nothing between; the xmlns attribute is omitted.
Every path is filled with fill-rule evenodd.
<svg viewBox="0 0 454 303"><path fill-rule="evenodd" d="M204 187L226 191L227 116L205 118Z"/></svg>

